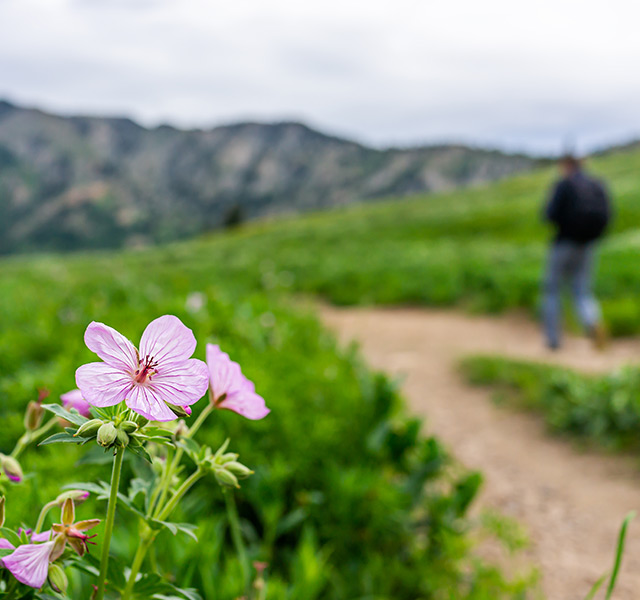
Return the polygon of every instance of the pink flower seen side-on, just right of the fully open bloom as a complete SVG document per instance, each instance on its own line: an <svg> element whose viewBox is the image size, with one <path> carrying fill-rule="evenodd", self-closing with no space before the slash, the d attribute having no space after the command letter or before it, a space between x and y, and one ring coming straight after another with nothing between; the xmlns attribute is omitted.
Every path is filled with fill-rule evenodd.
<svg viewBox="0 0 640 600"><path fill-rule="evenodd" d="M255 386L219 346L207 344L207 367L211 380L211 401L217 408L237 412L247 419L262 419L270 410L262 396L255 392Z"/></svg>

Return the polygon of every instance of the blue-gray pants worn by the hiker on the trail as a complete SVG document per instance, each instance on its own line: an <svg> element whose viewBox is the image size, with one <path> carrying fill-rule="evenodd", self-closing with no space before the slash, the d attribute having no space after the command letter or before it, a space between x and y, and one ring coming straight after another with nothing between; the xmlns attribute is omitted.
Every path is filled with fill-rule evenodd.
<svg viewBox="0 0 640 600"><path fill-rule="evenodd" d="M594 244L556 242L551 246L544 279L542 316L547 343L560 345L562 299L564 283L568 283L573 303L582 326L591 333L600 321L600 307L591 292L591 271Z"/></svg>

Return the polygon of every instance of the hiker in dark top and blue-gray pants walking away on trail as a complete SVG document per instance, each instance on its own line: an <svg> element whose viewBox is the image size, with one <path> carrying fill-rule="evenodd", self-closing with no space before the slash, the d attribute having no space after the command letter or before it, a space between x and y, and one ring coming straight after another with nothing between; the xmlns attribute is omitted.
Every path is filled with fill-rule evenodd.
<svg viewBox="0 0 640 600"><path fill-rule="evenodd" d="M544 210L545 219L556 229L544 278L544 333L548 347L557 350L561 338L561 291L568 283L582 326L596 347L602 349L606 330L591 291L591 279L597 241L611 220L611 203L603 183L585 174L578 158L563 156L559 167L562 178L555 184Z"/></svg>

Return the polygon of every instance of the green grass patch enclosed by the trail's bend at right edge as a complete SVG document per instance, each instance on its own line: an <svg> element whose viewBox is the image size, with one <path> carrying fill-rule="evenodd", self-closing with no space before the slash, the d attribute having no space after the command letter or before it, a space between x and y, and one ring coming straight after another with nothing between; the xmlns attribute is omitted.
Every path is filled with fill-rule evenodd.
<svg viewBox="0 0 640 600"><path fill-rule="evenodd" d="M490 386L500 401L542 415L555 432L606 450L640 450L636 367L595 376L499 356L472 356L461 368L470 383Z"/></svg>

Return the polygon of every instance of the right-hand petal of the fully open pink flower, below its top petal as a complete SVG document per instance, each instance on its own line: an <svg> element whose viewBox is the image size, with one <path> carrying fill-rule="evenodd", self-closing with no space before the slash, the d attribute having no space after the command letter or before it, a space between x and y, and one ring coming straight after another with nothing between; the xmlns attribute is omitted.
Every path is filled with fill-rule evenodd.
<svg viewBox="0 0 640 600"><path fill-rule="evenodd" d="M209 371L201 360L190 358L171 368L158 367L149 387L165 402L188 406L207 393Z"/></svg>

